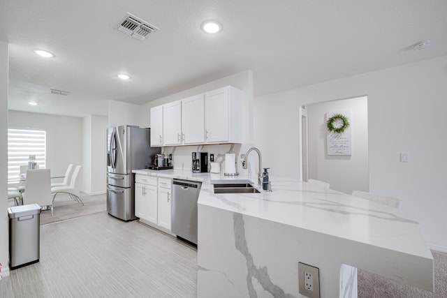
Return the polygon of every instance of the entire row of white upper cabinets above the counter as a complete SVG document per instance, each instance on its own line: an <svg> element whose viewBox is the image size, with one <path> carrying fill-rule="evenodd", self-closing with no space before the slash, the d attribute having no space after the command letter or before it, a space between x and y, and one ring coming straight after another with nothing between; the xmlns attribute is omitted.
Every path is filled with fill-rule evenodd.
<svg viewBox="0 0 447 298"><path fill-rule="evenodd" d="M227 86L151 108L151 146L242 143L242 91Z"/></svg>

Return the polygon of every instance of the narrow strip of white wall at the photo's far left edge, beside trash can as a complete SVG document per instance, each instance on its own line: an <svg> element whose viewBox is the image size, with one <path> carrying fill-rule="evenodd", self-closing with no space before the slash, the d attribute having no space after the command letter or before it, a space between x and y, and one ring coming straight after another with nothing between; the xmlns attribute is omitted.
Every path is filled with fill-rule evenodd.
<svg viewBox="0 0 447 298"><path fill-rule="evenodd" d="M0 280L9 275L8 267L8 44L0 41ZM1 282L1 281L0 281Z"/></svg>

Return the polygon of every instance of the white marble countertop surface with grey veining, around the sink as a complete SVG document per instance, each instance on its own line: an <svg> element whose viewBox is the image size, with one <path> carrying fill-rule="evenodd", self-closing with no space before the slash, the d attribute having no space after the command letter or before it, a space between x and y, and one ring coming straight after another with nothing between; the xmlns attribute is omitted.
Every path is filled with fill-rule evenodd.
<svg viewBox="0 0 447 298"><path fill-rule="evenodd" d="M216 181L257 178L195 174L191 170L133 172L202 181L198 204L432 259L416 217L400 209L293 179L270 177L272 192L265 192L254 183L261 193L215 194L212 183Z"/></svg>

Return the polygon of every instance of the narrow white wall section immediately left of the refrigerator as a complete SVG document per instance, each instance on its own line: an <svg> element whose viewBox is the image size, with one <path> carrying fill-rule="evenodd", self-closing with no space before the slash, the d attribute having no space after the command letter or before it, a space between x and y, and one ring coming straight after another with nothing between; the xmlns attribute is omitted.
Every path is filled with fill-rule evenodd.
<svg viewBox="0 0 447 298"><path fill-rule="evenodd" d="M82 119L82 192L105 193L108 117L89 115Z"/></svg>

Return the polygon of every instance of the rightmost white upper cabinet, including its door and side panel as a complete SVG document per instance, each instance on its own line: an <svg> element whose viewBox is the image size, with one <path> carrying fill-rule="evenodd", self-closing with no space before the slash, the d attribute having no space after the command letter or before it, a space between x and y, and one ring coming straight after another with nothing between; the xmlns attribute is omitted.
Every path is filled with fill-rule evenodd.
<svg viewBox="0 0 447 298"><path fill-rule="evenodd" d="M230 86L205 93L205 143L242 142L241 101Z"/></svg>

